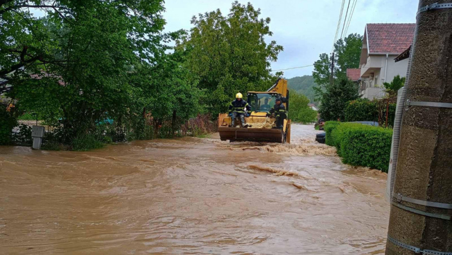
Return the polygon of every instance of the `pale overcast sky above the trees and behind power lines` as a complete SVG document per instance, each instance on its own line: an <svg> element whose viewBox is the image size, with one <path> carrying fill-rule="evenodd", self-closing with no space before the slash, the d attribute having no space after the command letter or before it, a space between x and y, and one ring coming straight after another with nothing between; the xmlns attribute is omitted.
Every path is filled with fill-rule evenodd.
<svg viewBox="0 0 452 255"><path fill-rule="evenodd" d="M233 0L165 0L165 32L191 28L190 20L198 13L220 9L229 13ZM270 17L270 31L284 47L272 69L311 65L320 53L330 53L336 33L342 0L239 0L261 8L262 17ZM348 12L351 12L351 4ZM416 23L417 0L357 0L347 34L364 34L366 23ZM348 0L345 0L344 22ZM347 18L348 19L348 18ZM345 33L344 33L345 34ZM311 75L313 67L285 70L284 76Z"/></svg>

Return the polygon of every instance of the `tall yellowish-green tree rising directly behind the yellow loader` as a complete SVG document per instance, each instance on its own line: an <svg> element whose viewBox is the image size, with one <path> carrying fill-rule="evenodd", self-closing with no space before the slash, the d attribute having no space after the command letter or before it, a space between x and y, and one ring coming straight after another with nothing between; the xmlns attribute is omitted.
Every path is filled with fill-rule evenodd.
<svg viewBox="0 0 452 255"><path fill-rule="evenodd" d="M190 34L178 43L187 52L187 67L199 77L199 87L208 96L204 103L216 115L226 111L237 92L264 90L275 82L270 62L276 61L282 46L271 36L270 18L250 3L232 3L230 13L220 10L193 17Z"/></svg>

